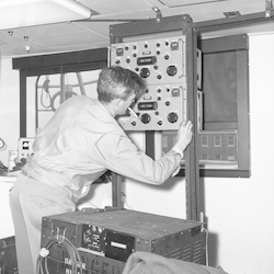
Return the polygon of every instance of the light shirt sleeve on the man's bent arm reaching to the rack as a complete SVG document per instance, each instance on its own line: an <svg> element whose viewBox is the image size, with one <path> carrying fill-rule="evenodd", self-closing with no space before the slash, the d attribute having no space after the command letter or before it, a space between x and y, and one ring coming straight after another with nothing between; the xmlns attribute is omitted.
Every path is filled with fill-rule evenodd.
<svg viewBox="0 0 274 274"><path fill-rule="evenodd" d="M127 136L107 134L96 142L103 164L113 172L148 184L162 184L180 165L181 156L169 151L153 160L138 150Z"/></svg>

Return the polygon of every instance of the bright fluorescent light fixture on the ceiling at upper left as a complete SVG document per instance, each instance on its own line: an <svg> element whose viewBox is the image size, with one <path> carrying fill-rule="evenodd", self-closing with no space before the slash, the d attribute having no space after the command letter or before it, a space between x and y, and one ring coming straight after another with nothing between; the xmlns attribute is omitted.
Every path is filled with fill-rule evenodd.
<svg viewBox="0 0 274 274"><path fill-rule="evenodd" d="M0 0L0 30L83 20L94 13L73 0Z"/></svg>

